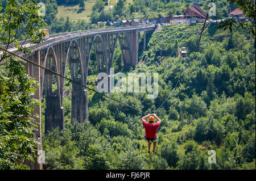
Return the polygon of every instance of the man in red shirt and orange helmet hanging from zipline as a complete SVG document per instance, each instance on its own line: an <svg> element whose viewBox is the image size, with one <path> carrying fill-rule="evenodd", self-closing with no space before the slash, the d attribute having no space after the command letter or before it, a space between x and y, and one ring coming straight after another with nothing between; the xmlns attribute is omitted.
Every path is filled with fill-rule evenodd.
<svg viewBox="0 0 256 181"><path fill-rule="evenodd" d="M146 118L148 117L148 123L146 122ZM154 124L155 119L158 120L157 123ZM150 146L153 142L153 152L156 153L155 151L155 146L156 146L156 141L158 140L158 136L156 135L156 131L158 130L158 127L160 125L160 123L162 122L158 116L156 116L155 114L151 115L148 114L147 116L142 117L141 119L143 126L145 128L145 135L144 135L144 140L148 142L147 146L148 146L148 151L147 153L150 153Z"/></svg>

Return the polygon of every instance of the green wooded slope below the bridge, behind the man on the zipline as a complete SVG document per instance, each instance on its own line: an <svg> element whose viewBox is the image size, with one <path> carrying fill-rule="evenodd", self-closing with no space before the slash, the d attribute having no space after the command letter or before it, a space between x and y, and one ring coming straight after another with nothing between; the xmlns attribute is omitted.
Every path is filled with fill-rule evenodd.
<svg viewBox="0 0 256 181"><path fill-rule="evenodd" d="M66 128L44 133L44 168L255 169L254 37L243 29L217 30L212 23L193 59L201 27L163 26L147 35L141 62L129 72L159 73L158 97L108 94L136 110L89 91L89 121L71 124L71 83L65 82ZM181 47L188 48L185 58L179 56ZM118 49L115 72L127 73L121 62ZM97 75L89 71L88 85L96 90ZM141 112L154 112L170 92L170 99L157 112L162 119L157 153L149 155ZM208 162L209 150L216 151L216 163Z"/></svg>

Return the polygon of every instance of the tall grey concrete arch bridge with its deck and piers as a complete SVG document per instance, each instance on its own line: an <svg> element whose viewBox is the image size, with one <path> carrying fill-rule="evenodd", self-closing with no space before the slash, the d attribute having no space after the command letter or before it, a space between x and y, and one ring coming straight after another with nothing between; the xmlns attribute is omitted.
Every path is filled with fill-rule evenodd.
<svg viewBox="0 0 256 181"><path fill-rule="evenodd" d="M114 49L117 46L117 41L119 41L123 65L128 69L138 63L139 32L144 32L143 49L145 49L146 33L154 30L154 25L147 24L143 26L59 33L49 35L48 40L39 44L31 44L31 40L20 41L20 46L30 48L30 54L16 52L16 49L11 47L12 45L8 50L63 76L65 76L67 64L69 64L71 79L86 85L92 49L94 49L97 61L97 72L103 71L109 74L109 69L112 67ZM1 56L0 53L0 58ZM43 94L45 96L45 132L52 131L56 127L63 129L65 127L63 107L64 79L30 63L27 63L25 68L31 77L40 82L40 87L36 90L34 98L42 101ZM88 120L87 91L83 87L72 83L71 99L71 121L76 119L81 123ZM41 106L35 107L33 113L34 115L41 115ZM41 116L35 117L35 121L39 123L35 138L40 142L38 150L42 150ZM31 164L31 167L32 169L42 169L42 164Z"/></svg>

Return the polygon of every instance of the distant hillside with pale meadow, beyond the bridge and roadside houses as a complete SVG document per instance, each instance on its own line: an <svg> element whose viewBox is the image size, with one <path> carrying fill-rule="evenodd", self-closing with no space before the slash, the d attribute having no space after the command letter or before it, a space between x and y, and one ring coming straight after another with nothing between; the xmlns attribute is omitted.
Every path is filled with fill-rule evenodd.
<svg viewBox="0 0 256 181"><path fill-rule="evenodd" d="M1 1L3 7L5 7L6 1ZM165 16L181 15L187 7L193 4L191 0L180 0L179 2L123 0L117 3L115 0L110 0L110 5L108 5L105 0L85 0L85 6L79 7L81 1L83 0L36 0L37 3L44 3L46 8L43 16L44 22L46 22L44 28L49 28L49 32L54 34L100 28L95 24L108 20L110 22L134 18L153 20ZM234 3L229 3L227 0L214 3L216 3L216 16L209 16L212 19L228 17L228 10L236 8L233 6ZM198 5L205 12L207 11L207 1L201 1ZM109 11L109 6L113 6L112 11ZM0 10L0 12L2 11ZM24 39L26 39L24 35L19 37L20 41Z"/></svg>

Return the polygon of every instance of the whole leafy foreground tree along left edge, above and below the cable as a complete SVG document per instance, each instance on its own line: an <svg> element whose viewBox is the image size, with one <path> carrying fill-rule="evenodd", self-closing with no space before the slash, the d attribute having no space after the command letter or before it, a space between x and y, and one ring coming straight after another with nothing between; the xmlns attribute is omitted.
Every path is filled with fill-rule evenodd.
<svg viewBox="0 0 256 181"><path fill-rule="evenodd" d="M2 2L2 1L1 1ZM22 35L32 41L42 41L40 31L45 23L38 14L35 1L0 2L0 44L10 44L23 53L27 48L18 47ZM18 51L17 50L17 51ZM36 125L32 111L40 104L32 98L39 84L26 74L24 63L18 58L3 53L0 60L0 169L30 169L25 161L34 161L38 142L34 138Z"/></svg>

